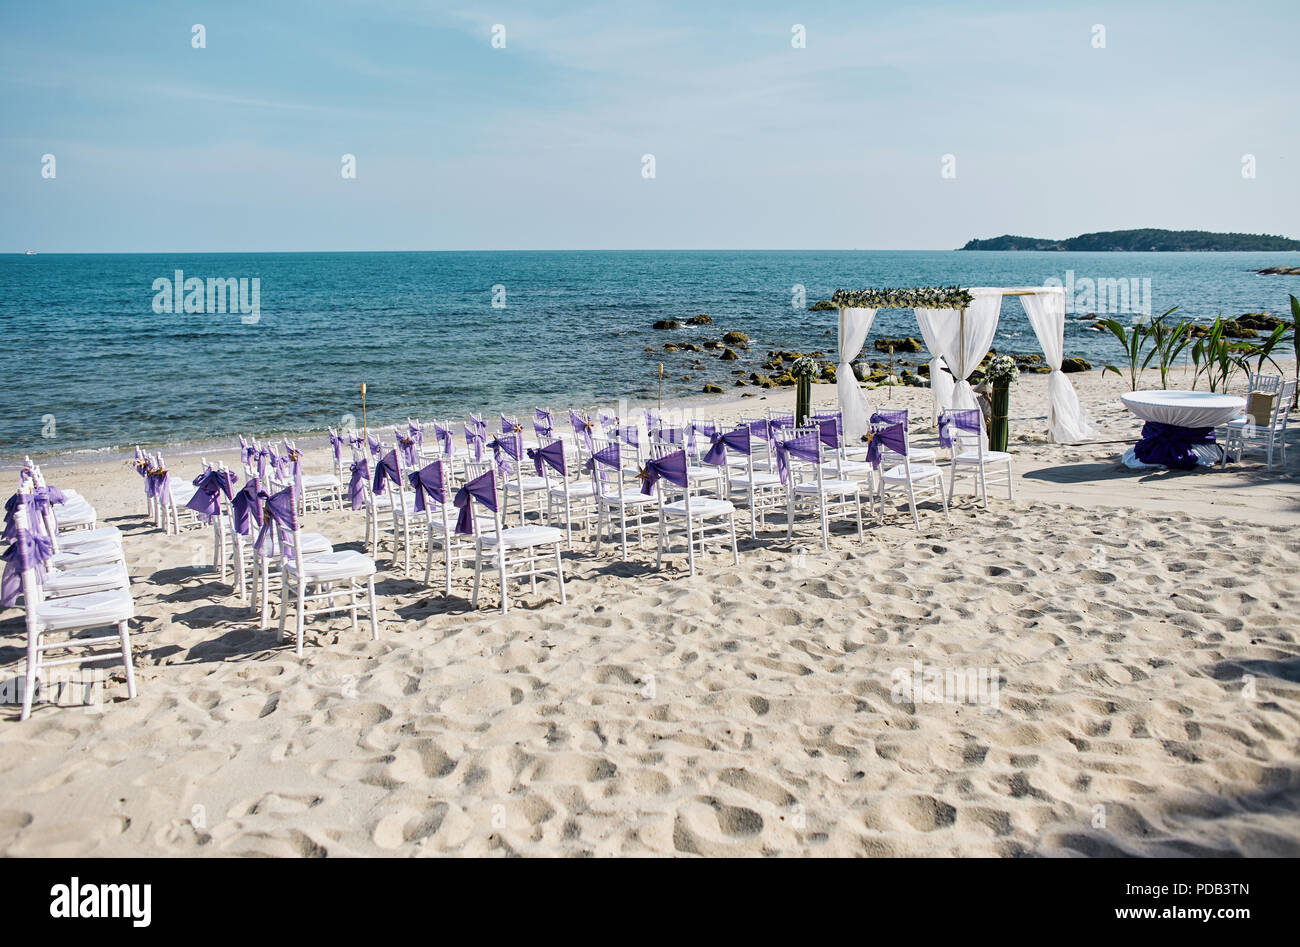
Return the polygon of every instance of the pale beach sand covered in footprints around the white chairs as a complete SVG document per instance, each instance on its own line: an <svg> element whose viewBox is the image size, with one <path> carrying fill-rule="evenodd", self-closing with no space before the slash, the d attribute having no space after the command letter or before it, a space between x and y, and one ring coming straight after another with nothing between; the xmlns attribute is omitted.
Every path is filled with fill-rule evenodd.
<svg viewBox="0 0 1300 947"><path fill-rule="evenodd" d="M694 578L576 544L568 602L541 583L506 617L469 610L468 571L446 597L381 555L380 640L317 619L302 658L217 583L207 531L146 522L121 460L48 460L126 533L139 693L118 669L103 706L3 708L0 852L1297 856L1300 455L1130 471L1126 385L1071 380L1098 438L1048 444L1022 376L1015 500L927 506L919 536L905 510L829 552L772 523ZM793 406L762 394L707 414ZM306 528L360 549L364 518ZM0 634L12 679L21 610ZM927 670L992 674L996 708L900 699Z"/></svg>

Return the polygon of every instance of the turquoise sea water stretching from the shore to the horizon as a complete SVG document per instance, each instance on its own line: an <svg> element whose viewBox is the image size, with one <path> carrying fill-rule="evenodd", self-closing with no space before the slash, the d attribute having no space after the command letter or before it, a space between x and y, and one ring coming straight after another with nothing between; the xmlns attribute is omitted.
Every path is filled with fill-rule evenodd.
<svg viewBox="0 0 1300 947"><path fill-rule="evenodd" d="M833 353L835 312L794 307L794 286L812 304L837 287L1041 285L1072 272L1076 285L1149 280L1154 313L1176 304L1197 319L1280 315L1300 277L1251 272L1275 264L1300 264L1300 254L3 255L0 457L321 431L360 415L361 381L372 425L653 398L660 360L666 398L706 381L729 388L731 371L758 367L768 349ZM155 312L155 281L176 271L256 278L257 319ZM1084 308L1067 320L1066 354L1100 367L1118 346L1091 329L1096 303ZM650 328L699 312L714 324ZM741 362L706 355L706 369L692 371L694 355L662 351L671 340L729 329L750 336ZM897 311L881 312L872 334L919 333L911 313ZM1004 303L994 347L1039 351L1015 299ZM870 341L866 354L876 356Z"/></svg>

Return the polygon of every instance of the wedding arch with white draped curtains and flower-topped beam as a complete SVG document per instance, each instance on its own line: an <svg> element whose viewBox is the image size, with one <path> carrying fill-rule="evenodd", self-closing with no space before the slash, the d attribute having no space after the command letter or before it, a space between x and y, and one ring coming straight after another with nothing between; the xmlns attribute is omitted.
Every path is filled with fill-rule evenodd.
<svg viewBox="0 0 1300 947"><path fill-rule="evenodd" d="M970 376L993 345L1005 297L1019 297L1034 327L1048 376L1048 437L1076 444L1096 433L1070 379L1061 371L1065 358L1065 290L1061 286L916 286L911 289L836 290L840 310L840 366L836 371L840 410L848 437L867 431L867 398L853 375L853 359L866 345L880 310L913 310L930 353L930 388L935 418L948 408L975 407ZM952 375L945 371L946 368Z"/></svg>

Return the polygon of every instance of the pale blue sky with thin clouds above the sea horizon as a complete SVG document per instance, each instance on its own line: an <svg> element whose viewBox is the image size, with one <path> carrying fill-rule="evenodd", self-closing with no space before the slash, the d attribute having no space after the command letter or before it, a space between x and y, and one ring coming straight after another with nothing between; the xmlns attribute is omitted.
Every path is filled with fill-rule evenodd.
<svg viewBox="0 0 1300 947"><path fill-rule="evenodd" d="M1294 0L0 0L0 251L1300 237L1297 27Z"/></svg>

